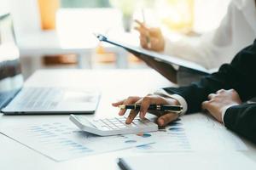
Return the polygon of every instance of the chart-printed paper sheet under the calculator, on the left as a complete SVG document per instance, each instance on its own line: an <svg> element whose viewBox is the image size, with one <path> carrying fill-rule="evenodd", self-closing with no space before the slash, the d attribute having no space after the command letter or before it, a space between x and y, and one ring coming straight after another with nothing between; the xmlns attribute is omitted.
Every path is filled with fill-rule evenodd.
<svg viewBox="0 0 256 170"><path fill-rule="evenodd" d="M1 127L0 131L55 161L67 161L76 157L123 150L149 143L148 139L137 134L99 137L80 131L69 121Z"/></svg>

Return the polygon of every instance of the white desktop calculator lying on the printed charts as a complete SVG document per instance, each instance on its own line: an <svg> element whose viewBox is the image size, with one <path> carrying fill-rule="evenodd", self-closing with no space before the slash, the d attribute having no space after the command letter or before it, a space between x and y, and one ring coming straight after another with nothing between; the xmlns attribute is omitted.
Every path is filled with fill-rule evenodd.
<svg viewBox="0 0 256 170"><path fill-rule="evenodd" d="M71 115L69 119L81 130L94 133L100 136L110 136L116 134L146 133L158 130L158 125L148 119L136 117L131 124L126 124L125 116L87 120L84 116Z"/></svg>

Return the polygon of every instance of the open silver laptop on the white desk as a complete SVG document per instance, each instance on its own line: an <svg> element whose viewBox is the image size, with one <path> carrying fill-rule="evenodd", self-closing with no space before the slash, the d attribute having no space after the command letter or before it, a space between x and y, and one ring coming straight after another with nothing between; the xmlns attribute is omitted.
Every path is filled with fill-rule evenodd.
<svg viewBox="0 0 256 170"><path fill-rule="evenodd" d="M100 92L84 88L23 87L10 14L0 15L0 111L5 115L92 114Z"/></svg>

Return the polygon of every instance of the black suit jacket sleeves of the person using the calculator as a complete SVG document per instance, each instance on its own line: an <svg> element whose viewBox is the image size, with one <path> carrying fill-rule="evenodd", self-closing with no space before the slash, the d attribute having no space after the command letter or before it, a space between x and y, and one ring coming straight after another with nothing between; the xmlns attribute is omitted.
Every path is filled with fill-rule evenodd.
<svg viewBox="0 0 256 170"><path fill-rule="evenodd" d="M222 88L234 88L242 101L256 96L256 40L236 54L231 64L222 65L218 72L203 77L200 82L165 90L183 96L188 103L187 113L193 113L201 111L201 103L207 100L208 94ZM230 107L225 113L224 124L256 143L256 104Z"/></svg>

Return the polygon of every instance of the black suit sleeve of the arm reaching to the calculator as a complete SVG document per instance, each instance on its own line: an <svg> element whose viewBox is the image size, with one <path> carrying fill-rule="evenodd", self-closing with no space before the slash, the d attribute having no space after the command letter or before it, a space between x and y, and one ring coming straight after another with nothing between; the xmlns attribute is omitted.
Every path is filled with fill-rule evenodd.
<svg viewBox="0 0 256 170"><path fill-rule="evenodd" d="M234 88L242 101L256 96L256 41L236 54L231 64L220 67L218 72L203 77L200 82L181 88L164 88L167 93L179 94L187 101L187 113L201 111L201 103L208 94L219 89Z"/></svg>

